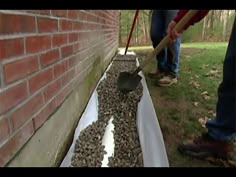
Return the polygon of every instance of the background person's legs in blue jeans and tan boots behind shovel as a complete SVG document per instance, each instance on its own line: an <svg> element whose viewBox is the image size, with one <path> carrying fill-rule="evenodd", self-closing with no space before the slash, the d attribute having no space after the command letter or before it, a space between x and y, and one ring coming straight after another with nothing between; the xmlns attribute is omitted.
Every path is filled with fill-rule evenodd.
<svg viewBox="0 0 236 177"><path fill-rule="evenodd" d="M178 10L153 10L151 19L150 36L155 48L166 36L168 24L176 16ZM165 47L157 56L157 67L154 73L148 73L148 77L156 79L159 86L170 86L177 83L179 72L179 53L181 36L175 42Z"/></svg>

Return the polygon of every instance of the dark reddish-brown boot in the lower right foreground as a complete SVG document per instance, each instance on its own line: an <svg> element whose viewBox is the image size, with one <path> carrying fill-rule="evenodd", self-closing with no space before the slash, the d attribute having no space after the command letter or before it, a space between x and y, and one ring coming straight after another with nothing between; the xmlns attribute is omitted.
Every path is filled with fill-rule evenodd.
<svg viewBox="0 0 236 177"><path fill-rule="evenodd" d="M215 140L207 133L203 133L200 137L179 145L178 150L183 154L200 159L216 157L230 160L234 146L233 141Z"/></svg>

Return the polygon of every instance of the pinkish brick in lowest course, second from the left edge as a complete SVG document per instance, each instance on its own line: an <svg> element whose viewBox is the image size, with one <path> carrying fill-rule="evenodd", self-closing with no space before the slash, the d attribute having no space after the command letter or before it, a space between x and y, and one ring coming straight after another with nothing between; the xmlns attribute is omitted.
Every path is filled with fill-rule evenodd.
<svg viewBox="0 0 236 177"><path fill-rule="evenodd" d="M57 104L56 99L49 102L45 108L42 109L34 118L34 128L37 130L43 123L49 118L49 116L56 110Z"/></svg>

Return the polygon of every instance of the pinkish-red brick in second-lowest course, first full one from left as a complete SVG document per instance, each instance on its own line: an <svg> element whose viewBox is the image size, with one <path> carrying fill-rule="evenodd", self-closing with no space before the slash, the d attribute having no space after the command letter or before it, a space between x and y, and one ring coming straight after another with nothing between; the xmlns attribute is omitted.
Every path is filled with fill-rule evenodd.
<svg viewBox="0 0 236 177"><path fill-rule="evenodd" d="M24 105L14 111L11 115L13 129L17 130L25 122L27 122L31 116L36 113L40 107L43 106L43 95L39 93L28 100Z"/></svg>

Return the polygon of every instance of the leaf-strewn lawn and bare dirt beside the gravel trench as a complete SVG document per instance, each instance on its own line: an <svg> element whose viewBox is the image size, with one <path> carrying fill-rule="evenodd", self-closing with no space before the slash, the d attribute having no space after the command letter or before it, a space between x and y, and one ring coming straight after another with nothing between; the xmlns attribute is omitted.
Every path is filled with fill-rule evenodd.
<svg viewBox="0 0 236 177"><path fill-rule="evenodd" d="M217 88L222 79L223 59L227 43L191 43L181 45L178 83L168 87L157 87L147 77L154 71L156 60L144 69L144 74L158 121L163 133L165 147L171 167L216 167L207 161L181 155L177 145L191 138L204 128L199 119L206 120L215 115ZM152 48L130 48L144 59Z"/></svg>

